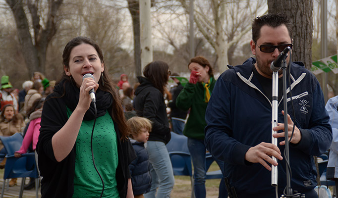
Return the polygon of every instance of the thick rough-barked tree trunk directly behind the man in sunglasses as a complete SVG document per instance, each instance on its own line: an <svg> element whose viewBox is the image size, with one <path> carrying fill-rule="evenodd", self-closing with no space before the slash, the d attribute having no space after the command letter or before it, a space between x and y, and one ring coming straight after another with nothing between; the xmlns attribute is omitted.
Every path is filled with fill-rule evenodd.
<svg viewBox="0 0 338 198"><path fill-rule="evenodd" d="M285 13L292 24L292 61L302 61L307 69L312 65L312 0L268 0L269 13Z"/></svg>

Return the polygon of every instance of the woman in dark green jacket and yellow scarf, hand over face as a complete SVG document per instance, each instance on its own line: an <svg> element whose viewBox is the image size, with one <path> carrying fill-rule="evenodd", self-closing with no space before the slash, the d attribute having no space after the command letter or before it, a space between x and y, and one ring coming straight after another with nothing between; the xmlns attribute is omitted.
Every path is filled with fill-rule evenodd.
<svg viewBox="0 0 338 198"><path fill-rule="evenodd" d="M187 83L176 99L176 106L190 113L183 135L188 137L188 149L194 166L194 192L196 198L205 198L206 147L204 145L205 111L216 80L213 68L203 56L192 58L188 64L191 72ZM221 162L223 164L223 162ZM221 165L222 167L224 165ZM221 168L222 170L222 168ZM223 171L223 170L222 170Z"/></svg>

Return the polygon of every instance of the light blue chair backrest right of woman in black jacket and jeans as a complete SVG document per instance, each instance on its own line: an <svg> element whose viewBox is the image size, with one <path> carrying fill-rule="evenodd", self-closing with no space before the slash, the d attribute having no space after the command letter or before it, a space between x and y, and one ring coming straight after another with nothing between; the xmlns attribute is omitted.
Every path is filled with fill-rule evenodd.
<svg viewBox="0 0 338 198"><path fill-rule="evenodd" d="M180 152L189 153L188 138L186 136L179 135L174 132L170 132L170 133L171 133L171 139L169 143L166 145L168 152L180 151Z"/></svg>

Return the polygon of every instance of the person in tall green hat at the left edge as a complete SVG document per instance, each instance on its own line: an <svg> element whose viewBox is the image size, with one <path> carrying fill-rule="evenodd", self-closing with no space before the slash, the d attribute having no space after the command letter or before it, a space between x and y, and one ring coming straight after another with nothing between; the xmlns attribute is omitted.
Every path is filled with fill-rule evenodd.
<svg viewBox="0 0 338 198"><path fill-rule="evenodd" d="M19 111L19 104L16 97L11 94L12 84L9 82L9 76L1 77L1 88L0 88L0 102L1 102L1 110L2 107L6 104L12 104L14 106L15 112Z"/></svg>

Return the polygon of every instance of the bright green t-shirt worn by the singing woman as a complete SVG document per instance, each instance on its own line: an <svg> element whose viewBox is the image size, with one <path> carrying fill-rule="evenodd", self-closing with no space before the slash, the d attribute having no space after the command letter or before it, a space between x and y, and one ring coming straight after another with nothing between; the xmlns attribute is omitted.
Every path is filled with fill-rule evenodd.
<svg viewBox="0 0 338 198"><path fill-rule="evenodd" d="M67 114L71 111L67 108ZM96 198L102 192L102 182L92 160L90 140L94 120L83 120L76 139L73 198ZM96 168L105 183L103 198L119 198L115 172L118 164L117 140L112 117L107 112L96 119L93 135Z"/></svg>

